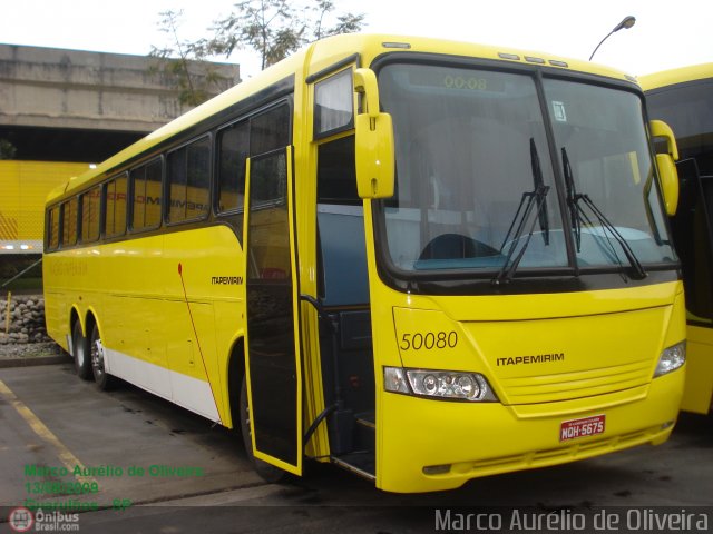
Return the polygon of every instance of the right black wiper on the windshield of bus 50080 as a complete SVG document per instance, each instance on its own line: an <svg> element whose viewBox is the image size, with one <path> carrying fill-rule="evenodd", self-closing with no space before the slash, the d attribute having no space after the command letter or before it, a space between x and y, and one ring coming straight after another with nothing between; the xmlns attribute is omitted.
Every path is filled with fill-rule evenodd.
<svg viewBox="0 0 713 534"><path fill-rule="evenodd" d="M634 269L634 278L638 280L646 278L647 276L646 271L644 270L644 267L642 266L641 261L634 254L634 250L632 250L632 247L629 246L628 241L624 239L624 237L619 234L616 227L609 221L609 219L607 219L607 217L596 206L596 204L594 204L594 200L592 200L589 195L577 192L575 188L574 176L572 172L572 166L569 165L569 157L567 156L567 150L565 149L565 147L561 147L561 162L565 171L565 186L567 188L567 205L569 206L569 216L572 219L572 228L575 234L575 243L577 245L577 251L579 253L582 249L582 222L584 221L586 226L594 227L594 225L592 224L592 220L584 212L579 204L582 201L582 204L587 206L589 210L594 214L594 216L597 218L599 226L608 230L609 234L614 237L614 239L616 239L616 241L619 244L619 246L622 247L622 250L624 250L624 256L626 256L626 259L628 260L629 265ZM614 248L612 248L612 253L614 254L616 261L621 264L618 259L618 255L616 254L616 250Z"/></svg>

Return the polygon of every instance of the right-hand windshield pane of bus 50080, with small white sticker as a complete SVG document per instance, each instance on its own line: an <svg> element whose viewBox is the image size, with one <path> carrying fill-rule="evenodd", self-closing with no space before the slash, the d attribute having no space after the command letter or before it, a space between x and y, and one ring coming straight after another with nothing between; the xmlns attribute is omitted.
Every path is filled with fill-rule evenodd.
<svg viewBox="0 0 713 534"><path fill-rule="evenodd" d="M548 79L545 95L574 212L570 226L579 267L627 264L614 230L642 264L675 259L641 99L616 89ZM573 198L576 195L586 195L588 202Z"/></svg>

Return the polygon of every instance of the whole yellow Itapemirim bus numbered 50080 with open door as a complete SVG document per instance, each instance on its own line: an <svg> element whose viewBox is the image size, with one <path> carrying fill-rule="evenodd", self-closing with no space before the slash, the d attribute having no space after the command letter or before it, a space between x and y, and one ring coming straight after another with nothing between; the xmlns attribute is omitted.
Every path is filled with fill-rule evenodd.
<svg viewBox="0 0 713 534"><path fill-rule="evenodd" d="M643 98L554 56L318 41L49 197L48 332L100 388L240 426L267 479L427 492L660 444L685 317Z"/></svg>

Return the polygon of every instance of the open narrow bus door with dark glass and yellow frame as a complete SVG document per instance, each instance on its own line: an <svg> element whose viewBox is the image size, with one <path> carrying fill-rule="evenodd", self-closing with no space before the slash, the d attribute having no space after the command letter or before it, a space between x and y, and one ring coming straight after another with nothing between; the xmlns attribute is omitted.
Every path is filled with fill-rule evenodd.
<svg viewBox="0 0 713 534"><path fill-rule="evenodd" d="M247 160L246 376L253 452L302 472L302 376L292 149Z"/></svg>

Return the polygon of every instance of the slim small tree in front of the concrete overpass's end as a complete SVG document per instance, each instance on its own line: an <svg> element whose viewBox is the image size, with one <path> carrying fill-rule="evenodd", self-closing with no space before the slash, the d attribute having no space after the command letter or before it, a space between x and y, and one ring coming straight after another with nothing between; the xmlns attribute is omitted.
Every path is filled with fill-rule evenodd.
<svg viewBox="0 0 713 534"><path fill-rule="evenodd" d="M152 70L163 71L175 80L179 89L178 101L182 105L198 106L208 99L209 88L217 86L225 77L206 60L204 47L178 38L183 10L164 11L159 16L159 30L169 34L173 44L164 48L152 47L149 56L160 60Z"/></svg>

